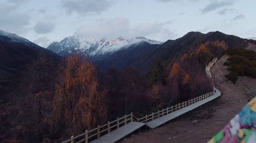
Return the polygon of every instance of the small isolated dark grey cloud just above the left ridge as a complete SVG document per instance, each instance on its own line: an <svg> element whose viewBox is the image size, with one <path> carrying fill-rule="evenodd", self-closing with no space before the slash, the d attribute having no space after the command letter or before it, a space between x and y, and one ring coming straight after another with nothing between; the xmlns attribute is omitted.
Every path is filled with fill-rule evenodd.
<svg viewBox="0 0 256 143"><path fill-rule="evenodd" d="M37 34L45 34L45 33L52 32L54 28L55 28L55 23L39 21L36 23L36 26L34 27L34 31Z"/></svg>

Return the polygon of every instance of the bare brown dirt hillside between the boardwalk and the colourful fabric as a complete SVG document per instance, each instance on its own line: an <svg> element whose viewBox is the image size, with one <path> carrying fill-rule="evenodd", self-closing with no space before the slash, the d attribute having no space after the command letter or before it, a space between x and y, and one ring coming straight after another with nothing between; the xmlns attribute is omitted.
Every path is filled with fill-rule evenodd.
<svg viewBox="0 0 256 143"><path fill-rule="evenodd" d="M222 96L214 101L183 115L170 124L154 130L142 130L128 136L121 143L206 143L252 99L256 93L256 79L239 77L236 84L226 79L229 73L223 63L228 59L223 55L211 68L213 82ZM198 120L198 121L197 121ZM197 121L196 123L192 123Z"/></svg>

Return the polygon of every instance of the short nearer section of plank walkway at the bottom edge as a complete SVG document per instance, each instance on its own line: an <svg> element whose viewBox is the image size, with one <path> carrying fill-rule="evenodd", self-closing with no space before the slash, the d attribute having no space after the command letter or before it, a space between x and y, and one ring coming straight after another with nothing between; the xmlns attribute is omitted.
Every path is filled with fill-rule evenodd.
<svg viewBox="0 0 256 143"><path fill-rule="evenodd" d="M141 128L145 123L140 122L130 122L116 130L111 131L108 134L105 134L104 136L93 140L90 143L116 143L119 140L123 139L124 137L128 136L135 130Z"/></svg>

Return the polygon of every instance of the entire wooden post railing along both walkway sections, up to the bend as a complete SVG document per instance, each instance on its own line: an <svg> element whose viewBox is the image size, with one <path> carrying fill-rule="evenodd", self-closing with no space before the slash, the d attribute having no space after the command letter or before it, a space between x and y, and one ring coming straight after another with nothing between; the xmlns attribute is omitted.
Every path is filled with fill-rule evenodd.
<svg viewBox="0 0 256 143"><path fill-rule="evenodd" d="M176 104L175 106L171 106L165 109L162 109L161 111L152 113L150 115L146 115L145 117L142 118L136 118L132 112L129 115L124 115L124 117L122 118L117 118L117 120L115 121L108 121L107 124L104 125L98 125L97 128L94 128L92 130L85 130L85 133L80 134L76 137L71 136L71 138L69 140L66 140L64 142L61 143L81 143L81 142L85 142L88 143L89 139L96 139L99 138L102 134L106 134L109 133L111 130L115 130L116 128L121 127L122 125L126 125L127 123L130 123L132 121L135 122L141 122L141 123L147 123L148 121L153 121L156 118L162 117L164 115L170 114L174 111L177 111L179 109L185 108L189 105L192 105L198 101L201 101L205 98L208 98L210 96L213 95L213 92L209 92L205 95L202 96L198 96L196 98L190 99L189 101L185 101L179 104ZM115 129L114 129L115 128ZM75 142L77 141L77 142Z"/></svg>

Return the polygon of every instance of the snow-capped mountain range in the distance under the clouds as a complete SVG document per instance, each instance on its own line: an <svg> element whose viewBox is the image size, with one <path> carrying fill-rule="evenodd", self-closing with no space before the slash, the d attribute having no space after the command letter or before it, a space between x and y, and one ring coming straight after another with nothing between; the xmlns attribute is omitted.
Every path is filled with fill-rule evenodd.
<svg viewBox="0 0 256 143"><path fill-rule="evenodd" d="M145 37L134 37L131 39L124 39L118 37L112 41L106 38L101 40L85 38L83 36L69 36L60 42L53 42L48 46L51 50L59 55L68 55L70 53L86 53L89 56L103 55L113 53L118 50L124 50L128 47L136 46L142 43L148 44L162 44L163 42L147 39Z"/></svg>

